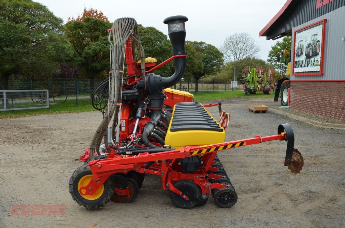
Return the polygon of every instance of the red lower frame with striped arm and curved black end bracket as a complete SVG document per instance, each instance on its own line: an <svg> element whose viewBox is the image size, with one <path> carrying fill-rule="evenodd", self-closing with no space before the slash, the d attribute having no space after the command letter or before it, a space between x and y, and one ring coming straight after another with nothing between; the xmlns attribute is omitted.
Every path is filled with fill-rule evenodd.
<svg viewBox="0 0 345 228"><path fill-rule="evenodd" d="M284 130L286 132L284 132ZM128 173L131 170L135 170L139 173L149 173L154 175L160 175L162 178L163 189L170 189L170 191L176 194L181 194L181 192L176 189L173 184L177 180L188 179L193 180L194 183L199 185L203 194L211 194L210 190L214 188L222 188L224 184L210 183L208 178L220 178L220 175L207 174L207 171L216 170L216 168L211 167L214 163L213 159L217 151L233 149L239 146L253 145L258 143L263 143L273 140L286 140L288 141L288 147L285 157L285 165L290 165L293 153L294 144L294 134L289 124L279 125L279 134L271 136L255 136L254 138L236 140L224 143L216 143L210 145L200 145L200 146L184 146L178 150L158 152L158 153L139 153L138 155L131 155L128 157L121 157L112 151L108 158L93 160L88 163L94 179L89 182L86 187L81 187L79 192L81 195L93 195L97 189L109 178L110 175L115 173ZM204 155L204 165L201 170L195 173L182 173L174 169L174 164L176 159L184 159L188 156ZM145 165L150 161L158 161L155 166L151 169L146 169ZM213 169L212 169L213 168ZM205 175L207 174L207 175ZM82 189L85 189L86 193L82 194ZM188 196L181 195L184 199L188 200Z"/></svg>

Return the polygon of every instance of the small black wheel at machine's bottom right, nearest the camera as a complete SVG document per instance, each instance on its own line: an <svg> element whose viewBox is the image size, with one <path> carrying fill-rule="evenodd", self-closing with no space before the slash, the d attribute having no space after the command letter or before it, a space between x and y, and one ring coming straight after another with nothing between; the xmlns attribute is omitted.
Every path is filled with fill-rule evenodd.
<svg viewBox="0 0 345 228"><path fill-rule="evenodd" d="M218 207L229 208L236 204L237 193L232 188L221 188L215 191L213 198Z"/></svg>

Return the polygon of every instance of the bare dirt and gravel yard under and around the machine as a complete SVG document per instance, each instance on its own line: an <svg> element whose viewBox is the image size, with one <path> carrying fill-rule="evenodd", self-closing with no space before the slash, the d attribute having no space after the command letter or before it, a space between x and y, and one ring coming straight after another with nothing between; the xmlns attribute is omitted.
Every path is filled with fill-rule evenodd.
<svg viewBox="0 0 345 228"><path fill-rule="evenodd" d="M208 104L208 103L205 103ZM146 175L138 198L87 210L72 200L68 181L82 163L100 112L0 120L0 228L12 227L345 227L345 131L322 129L275 113L251 113L230 99L227 140L274 135L290 123L295 148L304 156L300 174L284 167L286 142L271 141L221 151L220 161L237 191L237 203L219 208L175 207L159 176ZM208 108L217 117L217 107ZM65 205L64 215L11 215L13 205Z"/></svg>

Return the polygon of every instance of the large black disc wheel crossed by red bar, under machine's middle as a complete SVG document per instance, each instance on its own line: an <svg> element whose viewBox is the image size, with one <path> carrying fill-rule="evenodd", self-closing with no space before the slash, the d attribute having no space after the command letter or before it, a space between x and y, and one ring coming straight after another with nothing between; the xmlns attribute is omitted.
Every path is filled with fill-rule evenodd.
<svg viewBox="0 0 345 228"><path fill-rule="evenodd" d="M182 193L188 194L188 197L189 196L194 196L195 198L200 197L200 191L199 191L198 185L196 185L191 180L179 180L174 183L174 187L178 189L179 191L181 191ZM189 198L189 200L186 200L172 191L170 191L170 199L171 199L171 202L174 203L176 207L185 208L185 209L192 208L197 203L195 200L191 198Z"/></svg>

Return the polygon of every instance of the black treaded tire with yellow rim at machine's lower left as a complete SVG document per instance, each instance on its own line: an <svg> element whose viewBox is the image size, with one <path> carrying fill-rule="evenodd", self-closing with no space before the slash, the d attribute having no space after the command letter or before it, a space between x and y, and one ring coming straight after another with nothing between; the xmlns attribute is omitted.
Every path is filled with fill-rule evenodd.
<svg viewBox="0 0 345 228"><path fill-rule="evenodd" d="M95 209L106 205L110 201L110 198L114 195L115 183L114 179L110 176L108 180L103 183L102 187L99 188L103 188L103 190L101 190L101 194L96 192L93 195L95 196L98 194L99 197L95 199L87 199L88 196L82 196L79 193L78 184L85 184L88 178L91 177L89 175L92 176L92 173L88 164L83 164L82 166L78 167L78 169L73 172L71 178L69 179L69 193L71 193L72 199L76 200L80 206L84 206L87 209Z"/></svg>

